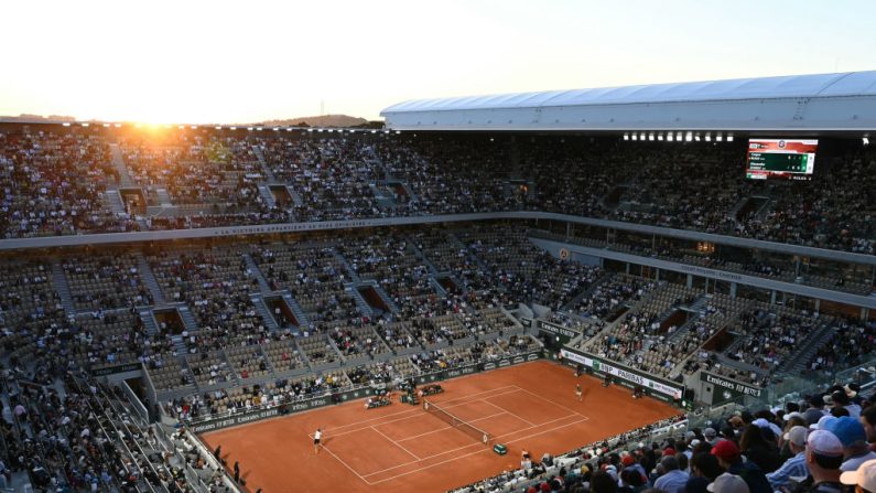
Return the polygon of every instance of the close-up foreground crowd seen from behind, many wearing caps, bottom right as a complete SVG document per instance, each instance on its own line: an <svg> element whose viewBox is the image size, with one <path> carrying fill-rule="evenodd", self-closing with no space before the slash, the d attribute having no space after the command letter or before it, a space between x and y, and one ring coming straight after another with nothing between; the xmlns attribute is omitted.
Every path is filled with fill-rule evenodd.
<svg viewBox="0 0 876 493"><path fill-rule="evenodd" d="M453 493L851 493L876 485L876 406L856 384L692 426L681 417Z"/></svg>

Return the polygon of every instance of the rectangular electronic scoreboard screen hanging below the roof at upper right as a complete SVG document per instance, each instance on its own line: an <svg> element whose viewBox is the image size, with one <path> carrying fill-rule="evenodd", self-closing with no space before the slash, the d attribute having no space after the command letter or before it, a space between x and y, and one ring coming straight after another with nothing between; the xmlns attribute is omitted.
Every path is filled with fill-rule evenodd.
<svg viewBox="0 0 876 493"><path fill-rule="evenodd" d="M813 139L749 139L745 178L811 180L818 146Z"/></svg>

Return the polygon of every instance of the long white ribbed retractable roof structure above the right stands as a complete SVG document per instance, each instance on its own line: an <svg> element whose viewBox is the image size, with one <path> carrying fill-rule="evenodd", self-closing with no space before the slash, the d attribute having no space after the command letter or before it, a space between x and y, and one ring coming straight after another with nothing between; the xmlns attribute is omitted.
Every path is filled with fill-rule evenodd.
<svg viewBox="0 0 876 493"><path fill-rule="evenodd" d="M876 71L417 99L397 130L876 129Z"/></svg>

